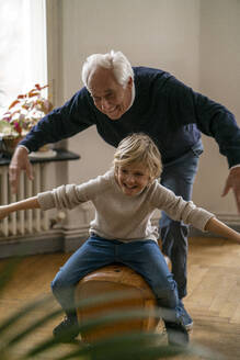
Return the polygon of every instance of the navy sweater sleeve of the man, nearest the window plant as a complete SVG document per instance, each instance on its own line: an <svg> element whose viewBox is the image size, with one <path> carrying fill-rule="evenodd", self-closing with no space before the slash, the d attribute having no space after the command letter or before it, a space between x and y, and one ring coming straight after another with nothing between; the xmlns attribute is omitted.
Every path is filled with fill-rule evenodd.
<svg viewBox="0 0 240 360"><path fill-rule="evenodd" d="M93 125L95 121L91 101L87 89L81 89L61 108L44 116L20 145L35 151L45 144L70 137Z"/></svg>

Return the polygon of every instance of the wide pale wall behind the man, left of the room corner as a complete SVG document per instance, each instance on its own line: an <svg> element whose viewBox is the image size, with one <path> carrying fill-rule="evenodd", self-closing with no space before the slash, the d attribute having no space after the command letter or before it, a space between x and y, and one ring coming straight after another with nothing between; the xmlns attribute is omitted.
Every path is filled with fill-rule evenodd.
<svg viewBox="0 0 240 360"><path fill-rule="evenodd" d="M81 83L87 56L121 49L133 65L172 71L198 86L199 2L192 0L64 0L64 90L68 99ZM188 54L192 54L191 57ZM91 128L75 136L69 148L81 154L72 181L104 172L113 149Z"/></svg>

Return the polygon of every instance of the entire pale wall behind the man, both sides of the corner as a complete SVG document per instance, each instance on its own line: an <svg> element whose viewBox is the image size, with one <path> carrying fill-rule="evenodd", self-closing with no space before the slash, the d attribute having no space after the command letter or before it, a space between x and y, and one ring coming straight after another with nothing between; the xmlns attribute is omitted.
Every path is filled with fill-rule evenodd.
<svg viewBox="0 0 240 360"><path fill-rule="evenodd" d="M64 100L82 87L85 57L114 48L133 65L174 74L239 115L240 1L61 0L61 5ZM214 140L204 143L194 201L216 213L235 213L232 196L220 199L227 161ZM111 165L114 149L94 128L72 137L68 147L81 155L69 164L70 182L103 173Z"/></svg>

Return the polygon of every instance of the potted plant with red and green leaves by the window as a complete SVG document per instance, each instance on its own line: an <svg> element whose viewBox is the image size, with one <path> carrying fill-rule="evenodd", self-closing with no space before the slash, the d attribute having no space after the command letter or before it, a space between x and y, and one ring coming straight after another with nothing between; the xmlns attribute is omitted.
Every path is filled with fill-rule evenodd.
<svg viewBox="0 0 240 360"><path fill-rule="evenodd" d="M12 154L18 143L53 109L49 100L43 97L48 86L35 85L25 94L19 94L9 105L0 121L2 151Z"/></svg>

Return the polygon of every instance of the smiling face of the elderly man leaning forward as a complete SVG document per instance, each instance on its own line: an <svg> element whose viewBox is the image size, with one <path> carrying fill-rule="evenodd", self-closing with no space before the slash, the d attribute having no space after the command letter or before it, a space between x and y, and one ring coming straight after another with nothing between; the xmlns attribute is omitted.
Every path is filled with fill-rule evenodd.
<svg viewBox="0 0 240 360"><path fill-rule="evenodd" d="M102 67L90 74L88 88L95 106L111 120L119 119L129 108L132 101L133 79L124 88L113 71Z"/></svg>

